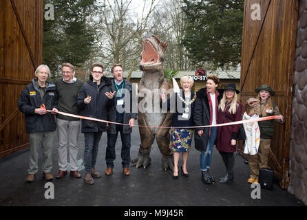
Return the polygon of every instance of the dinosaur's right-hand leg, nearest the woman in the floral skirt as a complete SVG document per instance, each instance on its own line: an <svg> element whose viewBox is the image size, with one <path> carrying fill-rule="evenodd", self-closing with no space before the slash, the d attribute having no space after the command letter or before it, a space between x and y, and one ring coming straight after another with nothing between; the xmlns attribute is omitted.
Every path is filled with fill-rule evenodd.
<svg viewBox="0 0 307 220"><path fill-rule="evenodd" d="M173 152L169 148L169 142L171 140L169 129L160 129L156 140L162 153L162 168L164 170L167 170L167 168L173 170Z"/></svg>

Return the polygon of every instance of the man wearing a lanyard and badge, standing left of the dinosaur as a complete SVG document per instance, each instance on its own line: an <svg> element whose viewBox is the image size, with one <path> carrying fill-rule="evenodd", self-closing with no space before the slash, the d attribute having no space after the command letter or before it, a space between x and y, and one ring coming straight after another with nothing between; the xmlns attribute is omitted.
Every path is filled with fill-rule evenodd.
<svg viewBox="0 0 307 220"><path fill-rule="evenodd" d="M123 66L115 64L112 69L112 91L116 91L116 102L109 111L109 119L112 122L121 124L109 124L107 127L107 150L105 160L107 169L105 175L112 175L114 168L114 159L116 159L115 144L120 132L122 141L121 157L123 174L130 175L130 147L131 147L131 132L137 118L137 113L132 113L132 83L123 79ZM122 125L122 124L129 124Z"/></svg>

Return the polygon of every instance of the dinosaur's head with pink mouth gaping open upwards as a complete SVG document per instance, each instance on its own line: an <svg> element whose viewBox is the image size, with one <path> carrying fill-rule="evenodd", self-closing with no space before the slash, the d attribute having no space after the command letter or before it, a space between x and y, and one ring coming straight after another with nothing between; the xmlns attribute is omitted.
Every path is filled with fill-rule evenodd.
<svg viewBox="0 0 307 220"><path fill-rule="evenodd" d="M147 34L142 41L142 61L140 70L146 72L158 72L162 70L167 43L160 41L158 36Z"/></svg>

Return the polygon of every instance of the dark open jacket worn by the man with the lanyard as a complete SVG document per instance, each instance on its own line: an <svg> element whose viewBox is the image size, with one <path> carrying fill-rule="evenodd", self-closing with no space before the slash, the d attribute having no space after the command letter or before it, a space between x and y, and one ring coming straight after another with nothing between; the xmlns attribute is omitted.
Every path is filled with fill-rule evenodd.
<svg viewBox="0 0 307 220"><path fill-rule="evenodd" d="M112 91L116 91L114 79L112 78L111 81L112 81L111 89ZM131 118L136 119L138 116L138 113L132 113L132 83L129 83L125 79L124 79L124 83L125 83L125 89L123 90L123 94L125 94L125 111L124 111L123 123L129 124L129 120ZM109 120L111 122L116 122L116 98L114 98L114 105L110 107L108 113L109 113ZM132 128L129 128L129 126L127 125L123 126L123 133L131 133L131 132L132 132ZM107 127L107 133L115 134L116 124L109 123L109 126Z"/></svg>

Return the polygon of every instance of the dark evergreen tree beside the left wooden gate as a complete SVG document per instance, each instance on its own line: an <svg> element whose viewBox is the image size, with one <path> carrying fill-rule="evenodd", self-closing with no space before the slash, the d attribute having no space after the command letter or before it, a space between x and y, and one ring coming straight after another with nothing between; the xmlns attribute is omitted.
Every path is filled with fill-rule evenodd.
<svg viewBox="0 0 307 220"><path fill-rule="evenodd" d="M43 63L59 76L63 62L81 66L92 52L95 30L87 17L95 13L96 0L45 0L54 5L54 20L43 21Z"/></svg>

